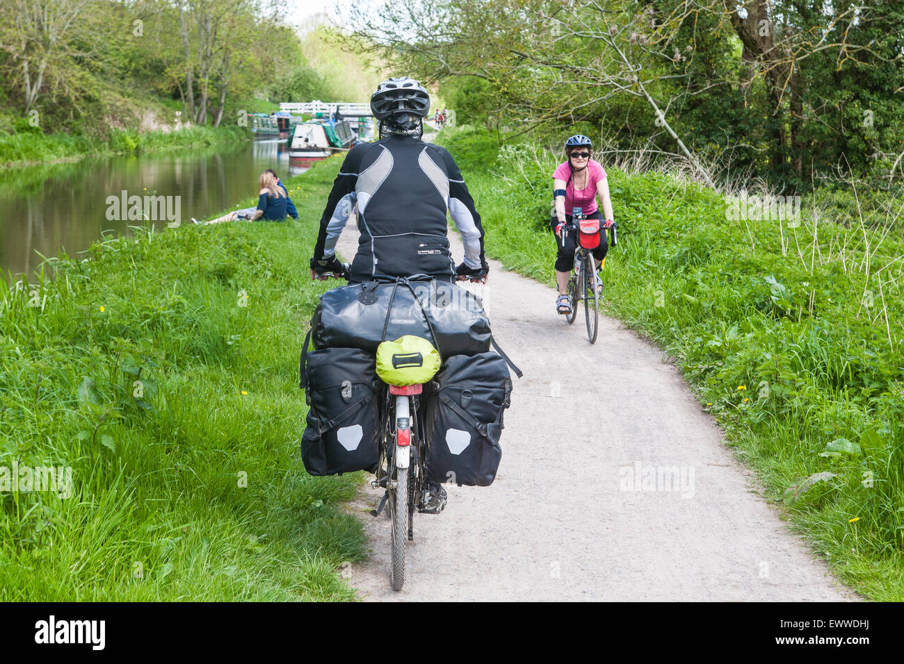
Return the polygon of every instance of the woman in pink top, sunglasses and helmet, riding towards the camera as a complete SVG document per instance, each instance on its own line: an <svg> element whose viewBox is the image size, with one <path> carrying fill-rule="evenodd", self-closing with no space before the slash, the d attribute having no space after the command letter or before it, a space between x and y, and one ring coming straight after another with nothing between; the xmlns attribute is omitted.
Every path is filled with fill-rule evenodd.
<svg viewBox="0 0 904 664"><path fill-rule="evenodd" d="M593 142L587 136L576 134L565 141L567 161L559 164L552 173L552 201L555 213L552 215L551 228L556 234L556 283L559 285L559 297L556 300L556 311L562 314L571 313L574 303L568 296L568 280L571 268L574 267L574 251L577 233L562 233L566 223L570 223L571 215L567 214L580 207L588 219L605 220L600 224L599 246L592 249L594 264L597 268L597 290L602 282L599 280L599 265L608 251L606 228L612 223L612 201L609 199L609 184L606 171L590 156L593 154ZM597 207L597 195L603 204L603 217Z"/></svg>

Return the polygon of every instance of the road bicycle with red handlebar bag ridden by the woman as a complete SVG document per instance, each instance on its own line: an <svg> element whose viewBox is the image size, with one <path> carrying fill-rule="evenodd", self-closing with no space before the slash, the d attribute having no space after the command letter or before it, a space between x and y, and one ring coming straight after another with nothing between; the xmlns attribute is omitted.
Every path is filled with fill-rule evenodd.
<svg viewBox="0 0 904 664"><path fill-rule="evenodd" d="M593 238L600 230L611 231L612 241L610 247L615 247L617 242L618 224L614 221L608 226L600 226L599 220L587 219L584 210L574 208L571 212L571 223L562 228L562 242L565 241L565 233L577 233L578 241L575 242L574 269L568 282L568 295L571 301L571 312L565 319L569 324L574 323L578 317L578 301L584 301L584 319L587 323L587 337L590 343L597 341L599 328L599 295L597 291L596 269L593 266L592 242L584 238ZM587 244L588 247L584 245ZM600 269L606 266L606 259L600 264ZM602 283L600 282L600 285Z"/></svg>

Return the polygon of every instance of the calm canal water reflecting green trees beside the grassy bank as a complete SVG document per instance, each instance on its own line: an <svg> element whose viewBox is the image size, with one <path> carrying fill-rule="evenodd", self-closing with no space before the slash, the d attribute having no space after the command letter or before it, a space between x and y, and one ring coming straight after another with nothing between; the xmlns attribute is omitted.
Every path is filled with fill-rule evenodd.
<svg viewBox="0 0 904 664"><path fill-rule="evenodd" d="M164 230L176 218L190 224L192 217L250 207L266 169L281 178L306 171L289 164L285 148L285 139L263 139L0 170L0 270L30 276L43 260L39 253L79 257L104 231L127 234L146 223ZM146 196L154 198L149 205Z"/></svg>

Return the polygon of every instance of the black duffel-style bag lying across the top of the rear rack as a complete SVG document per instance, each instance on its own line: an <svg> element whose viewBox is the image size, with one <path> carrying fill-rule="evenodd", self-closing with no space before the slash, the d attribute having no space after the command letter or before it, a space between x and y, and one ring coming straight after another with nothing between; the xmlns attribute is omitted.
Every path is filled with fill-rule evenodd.
<svg viewBox="0 0 904 664"><path fill-rule="evenodd" d="M431 341L444 358L489 351L492 336L480 298L442 281L334 288L321 296L311 332L317 348L371 353L381 341L413 334Z"/></svg>

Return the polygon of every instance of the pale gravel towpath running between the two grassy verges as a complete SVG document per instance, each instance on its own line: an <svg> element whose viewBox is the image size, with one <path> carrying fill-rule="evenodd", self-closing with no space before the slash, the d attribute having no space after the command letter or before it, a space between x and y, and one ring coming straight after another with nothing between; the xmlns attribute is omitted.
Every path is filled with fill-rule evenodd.
<svg viewBox="0 0 904 664"><path fill-rule="evenodd" d="M453 256L463 249L450 232ZM339 242L357 248L350 227ZM856 599L763 500L679 371L617 320L590 345L555 292L490 261L494 337L524 372L490 487L447 485L416 514L405 586L390 588L389 510L349 504L372 556L344 572L367 600L832 601ZM673 471L677 472L673 472ZM659 472L658 487L651 473Z"/></svg>

